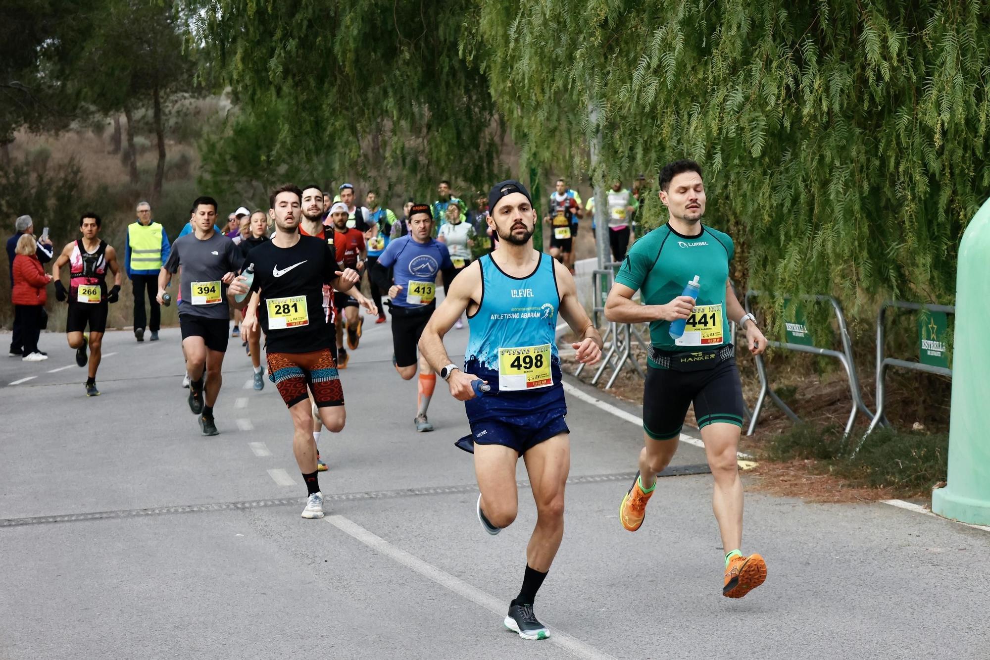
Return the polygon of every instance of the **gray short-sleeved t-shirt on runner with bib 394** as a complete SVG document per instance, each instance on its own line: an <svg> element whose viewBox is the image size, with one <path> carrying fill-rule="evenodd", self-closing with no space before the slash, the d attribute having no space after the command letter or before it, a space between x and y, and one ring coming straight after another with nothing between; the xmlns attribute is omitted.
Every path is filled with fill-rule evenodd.
<svg viewBox="0 0 990 660"><path fill-rule="evenodd" d="M241 252L234 241L222 234L214 232L205 241L200 241L195 234L176 239L164 268L173 275L182 269L179 313L230 318L227 284L221 278L228 273L237 273L241 261Z"/></svg>

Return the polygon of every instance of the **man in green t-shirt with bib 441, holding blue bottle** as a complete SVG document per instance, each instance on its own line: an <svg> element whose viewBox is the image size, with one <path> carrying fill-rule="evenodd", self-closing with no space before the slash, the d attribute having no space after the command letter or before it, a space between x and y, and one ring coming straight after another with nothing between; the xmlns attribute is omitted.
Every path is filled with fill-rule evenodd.
<svg viewBox="0 0 990 660"><path fill-rule="evenodd" d="M619 508L619 521L629 531L643 524L656 475L677 451L684 415L693 403L715 480L713 508L726 552L722 593L738 599L763 583L766 563L758 554L744 556L740 551L743 485L736 450L743 426L743 389L729 323L740 324L753 355L765 350L766 339L736 299L729 280L733 240L701 222L706 203L701 167L694 161L665 165L659 184L660 201L670 216L667 224L633 245L605 305L610 321L649 323L645 446L640 472ZM680 294L690 281L698 282L695 297ZM633 300L637 289L641 301Z"/></svg>

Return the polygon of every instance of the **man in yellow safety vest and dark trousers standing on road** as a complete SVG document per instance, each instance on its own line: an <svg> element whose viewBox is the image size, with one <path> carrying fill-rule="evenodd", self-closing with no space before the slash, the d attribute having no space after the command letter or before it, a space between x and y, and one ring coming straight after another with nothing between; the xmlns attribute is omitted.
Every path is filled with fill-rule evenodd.
<svg viewBox="0 0 990 660"><path fill-rule="evenodd" d="M145 341L145 290L151 306L151 341L158 341L158 327L161 323L161 307L155 300L158 292L158 272L168 259L171 246L165 230L157 222L151 222L151 205L138 203L138 221L128 225L127 244L124 248L124 265L127 275L134 283L134 336L139 342Z"/></svg>

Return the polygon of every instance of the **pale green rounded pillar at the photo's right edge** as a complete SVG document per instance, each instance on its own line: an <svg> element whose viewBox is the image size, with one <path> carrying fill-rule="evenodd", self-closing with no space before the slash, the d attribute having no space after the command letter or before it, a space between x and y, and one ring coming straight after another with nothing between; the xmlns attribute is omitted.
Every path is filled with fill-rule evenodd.
<svg viewBox="0 0 990 660"><path fill-rule="evenodd" d="M948 483L932 493L932 510L946 518L990 525L990 201L962 235L955 276L952 403Z"/></svg>

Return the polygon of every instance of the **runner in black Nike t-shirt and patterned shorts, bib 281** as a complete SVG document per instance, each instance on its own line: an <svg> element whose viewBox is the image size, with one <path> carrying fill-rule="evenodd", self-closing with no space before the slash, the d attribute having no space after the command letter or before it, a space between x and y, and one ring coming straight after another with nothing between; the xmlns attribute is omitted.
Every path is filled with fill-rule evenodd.
<svg viewBox="0 0 990 660"><path fill-rule="evenodd" d="M350 269L342 272L325 241L299 234L301 203L302 190L294 185L283 185L271 193L275 236L251 250L251 295L241 302L235 299L234 304L242 308L248 305L243 324L248 333L257 332L259 325L264 330L268 379L292 415L292 450L309 492L303 517L322 518L323 495L317 479L308 390L329 430L341 431L346 419L344 388L331 351L334 335L323 312L323 285L330 283L347 291L360 276ZM240 275L228 290L233 295L247 293L246 281L245 275Z"/></svg>

